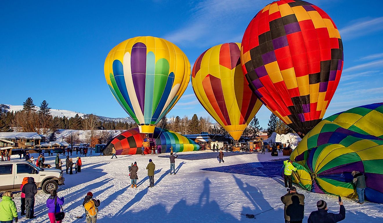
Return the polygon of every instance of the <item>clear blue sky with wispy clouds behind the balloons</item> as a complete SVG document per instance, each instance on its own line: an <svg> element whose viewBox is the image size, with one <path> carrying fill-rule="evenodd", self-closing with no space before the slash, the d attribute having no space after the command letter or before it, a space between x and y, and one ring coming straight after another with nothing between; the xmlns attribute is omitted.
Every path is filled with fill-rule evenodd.
<svg viewBox="0 0 383 223"><path fill-rule="evenodd" d="M119 42L157 36L175 43L191 65L224 42L241 42L254 15L271 1L1 1L0 103L32 97L54 109L125 117L104 78ZM326 115L383 101L381 1L311 0L331 16L344 45L344 69ZM168 116L208 116L191 85ZM257 114L267 127L270 111Z"/></svg>

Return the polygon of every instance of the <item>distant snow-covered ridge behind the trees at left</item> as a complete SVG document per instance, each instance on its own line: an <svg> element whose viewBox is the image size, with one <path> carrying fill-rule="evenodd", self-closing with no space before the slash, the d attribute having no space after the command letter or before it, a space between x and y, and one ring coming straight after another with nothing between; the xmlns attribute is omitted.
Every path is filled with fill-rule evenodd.
<svg viewBox="0 0 383 223"><path fill-rule="evenodd" d="M5 104L9 106L9 111L20 111L23 109L22 105L11 105L11 104ZM36 106L36 111L39 111L39 107ZM76 114L79 114L80 117L84 117L86 115L85 113L81 112L74 112L74 111L69 111L69 110L62 110L62 109L51 109L51 115L52 116L58 116L58 117L74 117ZM129 122L133 123L134 120L131 117L121 117L121 118L111 118L111 117L105 117L105 116L97 116L100 120L106 120L106 121L115 121L115 122Z"/></svg>

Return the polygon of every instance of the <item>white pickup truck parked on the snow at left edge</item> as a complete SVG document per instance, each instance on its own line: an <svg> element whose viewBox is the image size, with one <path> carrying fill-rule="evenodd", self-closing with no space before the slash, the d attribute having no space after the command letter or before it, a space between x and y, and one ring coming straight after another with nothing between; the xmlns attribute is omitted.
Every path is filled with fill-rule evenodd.
<svg viewBox="0 0 383 223"><path fill-rule="evenodd" d="M24 177L33 177L37 187L41 187L46 194L64 184L60 169L41 169L26 161L0 163L0 191L20 190Z"/></svg>

